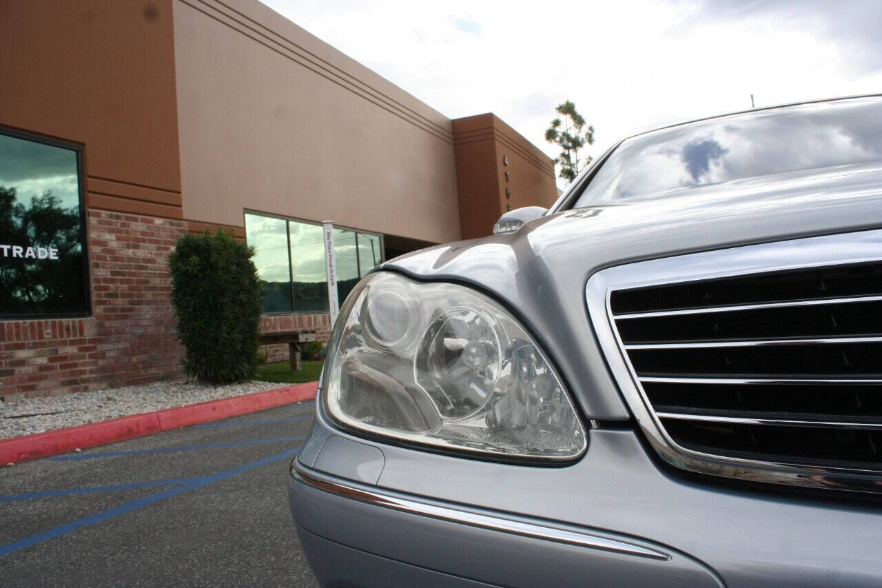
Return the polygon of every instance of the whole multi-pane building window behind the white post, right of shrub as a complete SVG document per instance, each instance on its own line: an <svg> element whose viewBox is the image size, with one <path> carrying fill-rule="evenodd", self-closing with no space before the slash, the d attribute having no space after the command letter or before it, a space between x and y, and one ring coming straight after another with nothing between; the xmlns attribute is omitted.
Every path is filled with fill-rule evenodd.
<svg viewBox="0 0 882 588"><path fill-rule="evenodd" d="M245 213L245 237L264 286L264 313L328 311L325 230L315 222ZM363 275L382 260L379 235L334 229L340 305Z"/></svg>

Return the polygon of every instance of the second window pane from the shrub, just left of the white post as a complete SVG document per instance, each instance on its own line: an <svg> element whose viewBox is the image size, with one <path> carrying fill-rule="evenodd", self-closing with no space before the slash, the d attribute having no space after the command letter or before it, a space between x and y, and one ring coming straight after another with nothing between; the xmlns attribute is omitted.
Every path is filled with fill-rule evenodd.
<svg viewBox="0 0 882 588"><path fill-rule="evenodd" d="M294 308L298 313L326 313L328 276L325 230L319 224L288 222L294 273Z"/></svg>

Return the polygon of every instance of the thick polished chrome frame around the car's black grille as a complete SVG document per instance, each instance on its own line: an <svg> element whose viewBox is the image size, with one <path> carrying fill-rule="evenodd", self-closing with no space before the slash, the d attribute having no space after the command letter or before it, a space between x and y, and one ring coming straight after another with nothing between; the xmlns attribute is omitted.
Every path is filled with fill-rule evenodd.
<svg viewBox="0 0 882 588"><path fill-rule="evenodd" d="M640 378L624 352L624 344L615 327L616 317L609 305L610 294L614 290L879 260L882 260L882 230L863 230L689 253L606 268L590 277L585 287L585 296L591 323L607 358L609 370L617 381L640 429L646 435L647 441L669 464L684 470L729 478L882 493L882 472L877 470L773 463L708 454L686 449L677 444L665 430L661 419L654 413ZM684 380L695 383L704 381L738 383L742 379ZM789 379L778 378L744 380L757 383L793 383ZM670 380L647 378L645 381ZM846 381L863 383L858 379ZM798 382L804 381L799 380L796 383ZM826 383L827 380L817 382ZM833 379L833 382L838 380ZM876 382L870 381L870 383Z"/></svg>

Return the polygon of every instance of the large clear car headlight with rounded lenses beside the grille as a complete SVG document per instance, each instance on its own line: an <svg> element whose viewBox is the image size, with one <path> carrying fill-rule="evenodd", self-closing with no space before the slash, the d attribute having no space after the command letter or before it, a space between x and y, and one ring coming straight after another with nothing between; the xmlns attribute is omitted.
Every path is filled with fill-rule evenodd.
<svg viewBox="0 0 882 588"><path fill-rule="evenodd" d="M325 406L349 428L497 456L569 459L585 428L510 313L452 283L378 272L340 311Z"/></svg>

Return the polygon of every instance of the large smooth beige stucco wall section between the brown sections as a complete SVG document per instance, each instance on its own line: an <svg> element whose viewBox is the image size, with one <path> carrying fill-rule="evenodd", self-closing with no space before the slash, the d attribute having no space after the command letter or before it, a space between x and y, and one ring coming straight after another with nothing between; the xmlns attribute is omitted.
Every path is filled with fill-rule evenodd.
<svg viewBox="0 0 882 588"><path fill-rule="evenodd" d="M176 0L183 216L460 238L451 121L257 0Z"/></svg>

